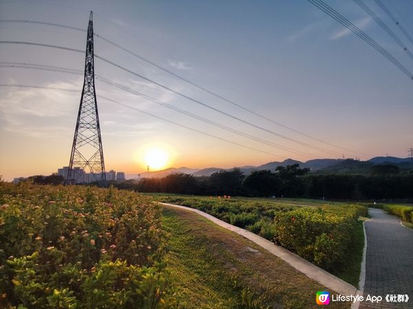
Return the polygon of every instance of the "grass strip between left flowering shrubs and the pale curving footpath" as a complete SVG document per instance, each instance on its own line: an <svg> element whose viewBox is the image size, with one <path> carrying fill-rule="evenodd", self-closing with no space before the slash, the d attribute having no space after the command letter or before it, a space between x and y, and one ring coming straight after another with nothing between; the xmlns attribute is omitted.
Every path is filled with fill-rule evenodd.
<svg viewBox="0 0 413 309"><path fill-rule="evenodd" d="M328 290L253 242L189 211L164 208L168 269L182 308L318 308ZM333 291L330 291L333 292ZM330 308L350 308L330 303Z"/></svg>

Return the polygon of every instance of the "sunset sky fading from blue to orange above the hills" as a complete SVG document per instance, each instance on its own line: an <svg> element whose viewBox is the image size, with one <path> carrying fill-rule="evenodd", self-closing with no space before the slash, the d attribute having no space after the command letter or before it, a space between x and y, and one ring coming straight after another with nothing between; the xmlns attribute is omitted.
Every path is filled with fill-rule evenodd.
<svg viewBox="0 0 413 309"><path fill-rule="evenodd" d="M413 36L413 1L382 1ZM413 44L375 1L363 2L413 50ZM413 60L356 3L326 3L413 72ZM238 136L96 80L107 170L145 171L148 152L156 153L153 149L167 154L165 167L227 168L286 158L306 161L343 155L361 160L386 154L406 157L407 149L413 147L413 81L308 1L0 1L0 40L84 50L85 32L4 21L42 21L86 30L89 10L94 12L96 34L257 114L327 142L248 113L95 37L94 49L99 56L267 131L197 105L95 59L95 73L99 76L244 134L295 150L277 149ZM28 45L0 44L0 58L2 63L34 63L74 70L83 70L84 66L83 54ZM0 175L12 180L19 176L49 175L67 166L83 76L0 67L0 84L78 90L0 87Z"/></svg>

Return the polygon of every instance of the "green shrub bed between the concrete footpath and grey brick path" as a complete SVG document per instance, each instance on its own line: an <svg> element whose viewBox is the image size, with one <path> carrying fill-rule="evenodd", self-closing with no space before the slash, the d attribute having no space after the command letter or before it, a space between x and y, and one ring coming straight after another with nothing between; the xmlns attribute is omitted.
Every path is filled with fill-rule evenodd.
<svg viewBox="0 0 413 309"><path fill-rule="evenodd" d="M246 228L333 273L346 263L350 246L357 237L359 216L367 215L367 207L358 204L295 206L178 195L158 195L156 199L200 209Z"/></svg>

